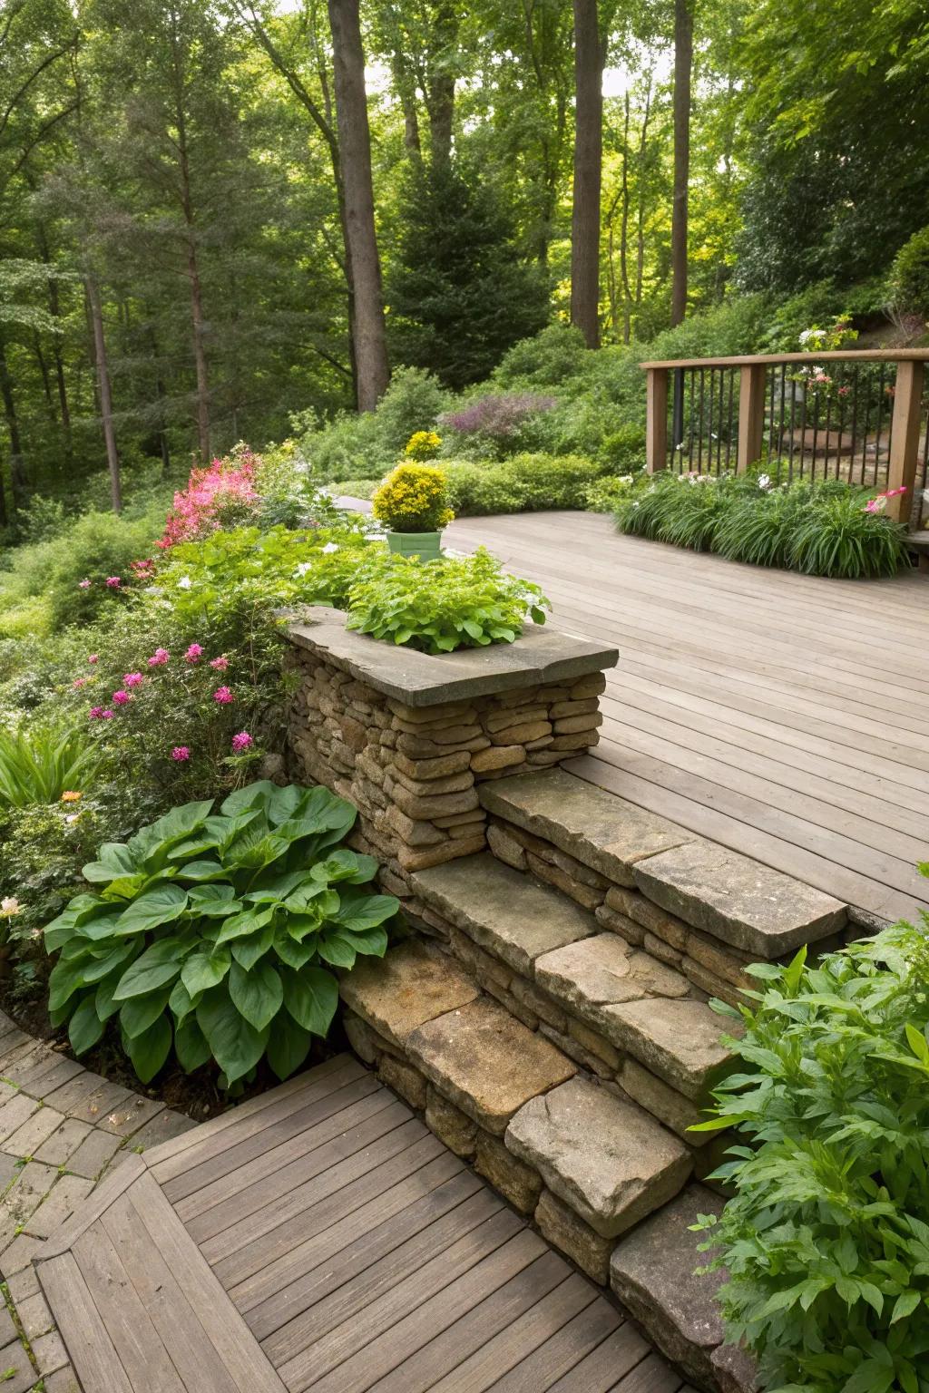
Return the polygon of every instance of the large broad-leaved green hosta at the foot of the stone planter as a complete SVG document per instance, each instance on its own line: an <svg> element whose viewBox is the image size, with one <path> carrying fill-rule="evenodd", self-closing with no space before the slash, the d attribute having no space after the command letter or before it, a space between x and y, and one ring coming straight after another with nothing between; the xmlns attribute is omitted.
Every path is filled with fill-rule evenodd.
<svg viewBox="0 0 929 1393"><path fill-rule="evenodd" d="M226 1088L263 1056L287 1078L333 1020L331 968L383 956L398 908L372 892L376 862L337 846L355 809L327 788L259 781L212 807L104 844L84 868L100 889L45 931L53 1024L81 1055L114 1021L142 1082L171 1046L187 1073L214 1060Z"/></svg>

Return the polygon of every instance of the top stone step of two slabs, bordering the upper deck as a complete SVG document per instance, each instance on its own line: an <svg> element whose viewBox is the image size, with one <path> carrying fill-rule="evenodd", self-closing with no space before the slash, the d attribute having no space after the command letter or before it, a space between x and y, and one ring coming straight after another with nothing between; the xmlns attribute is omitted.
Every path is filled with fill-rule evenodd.
<svg viewBox="0 0 929 1393"><path fill-rule="evenodd" d="M772 961L838 933L847 905L564 769L485 784L485 809L614 886L637 889L681 926ZM607 905L610 898L607 897Z"/></svg>

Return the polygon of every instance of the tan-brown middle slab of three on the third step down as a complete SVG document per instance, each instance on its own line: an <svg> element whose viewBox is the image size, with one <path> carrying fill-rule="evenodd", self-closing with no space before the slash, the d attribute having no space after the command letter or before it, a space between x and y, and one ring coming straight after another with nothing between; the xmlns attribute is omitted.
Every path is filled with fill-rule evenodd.
<svg viewBox="0 0 929 1393"><path fill-rule="evenodd" d="M428 1021L408 1036L407 1052L446 1098L497 1137L517 1109L575 1073L554 1045L487 997Z"/></svg>

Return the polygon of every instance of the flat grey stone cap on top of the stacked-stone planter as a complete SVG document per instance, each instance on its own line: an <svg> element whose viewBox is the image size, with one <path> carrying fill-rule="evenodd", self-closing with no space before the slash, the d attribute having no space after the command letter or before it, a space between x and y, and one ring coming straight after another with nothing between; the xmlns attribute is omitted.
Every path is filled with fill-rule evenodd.
<svg viewBox="0 0 929 1393"><path fill-rule="evenodd" d="M457 653L418 653L345 628L343 610L316 605L288 627L298 648L319 653L375 691L407 706L487 696L522 687L572 681L616 667L618 649L563 634L549 624L526 624L515 644L462 648Z"/></svg>

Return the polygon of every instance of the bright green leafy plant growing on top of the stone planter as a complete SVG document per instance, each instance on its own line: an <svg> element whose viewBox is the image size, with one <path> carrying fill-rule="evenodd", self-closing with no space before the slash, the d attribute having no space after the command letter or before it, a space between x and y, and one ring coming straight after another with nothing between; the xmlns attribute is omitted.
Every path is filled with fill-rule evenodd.
<svg viewBox="0 0 929 1393"><path fill-rule="evenodd" d="M483 547L474 556L437 561L391 557L369 579L351 586L348 628L407 644L423 653L513 644L528 617L545 623L550 609L538 585L506 574Z"/></svg>

